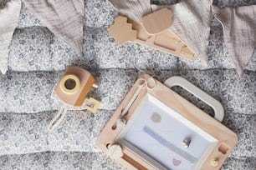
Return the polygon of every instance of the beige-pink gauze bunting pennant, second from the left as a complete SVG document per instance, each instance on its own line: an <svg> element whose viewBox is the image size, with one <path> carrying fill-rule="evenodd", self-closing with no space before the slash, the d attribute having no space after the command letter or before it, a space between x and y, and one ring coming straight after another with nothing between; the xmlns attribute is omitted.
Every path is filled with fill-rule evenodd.
<svg viewBox="0 0 256 170"><path fill-rule="evenodd" d="M66 42L77 55L83 47L83 0L23 0L33 13L56 37Z"/></svg>

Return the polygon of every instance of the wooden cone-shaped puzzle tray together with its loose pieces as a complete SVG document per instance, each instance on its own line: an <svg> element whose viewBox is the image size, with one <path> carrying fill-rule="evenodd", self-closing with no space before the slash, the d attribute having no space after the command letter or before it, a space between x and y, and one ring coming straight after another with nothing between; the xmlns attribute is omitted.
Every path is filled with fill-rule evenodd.
<svg viewBox="0 0 256 170"><path fill-rule="evenodd" d="M170 10L163 8L160 11L156 11L156 15L155 13L147 15L143 18L146 24L144 27L129 18L119 16L115 18L115 23L109 28L109 32L120 45L124 42L138 42L164 52L172 53L177 57L195 60L197 57L196 54L192 52L192 49L187 47L187 45L169 28L170 22L172 24L172 20L170 20L170 18L172 18L172 12L168 11ZM163 14L168 15L162 16ZM161 16L161 18L158 18L159 16ZM165 23L167 20L169 22ZM152 27L152 25L154 25L153 23L156 23L158 27ZM151 34L149 32L151 32ZM154 34L154 32L158 33Z"/></svg>

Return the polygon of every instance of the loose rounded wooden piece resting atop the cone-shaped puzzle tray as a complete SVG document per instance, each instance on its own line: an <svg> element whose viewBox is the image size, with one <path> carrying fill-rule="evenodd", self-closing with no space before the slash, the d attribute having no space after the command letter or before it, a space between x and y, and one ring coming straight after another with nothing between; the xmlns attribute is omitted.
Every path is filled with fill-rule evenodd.
<svg viewBox="0 0 256 170"><path fill-rule="evenodd" d="M141 22L148 34L154 35L164 32L172 26L172 11L162 8L142 17Z"/></svg>

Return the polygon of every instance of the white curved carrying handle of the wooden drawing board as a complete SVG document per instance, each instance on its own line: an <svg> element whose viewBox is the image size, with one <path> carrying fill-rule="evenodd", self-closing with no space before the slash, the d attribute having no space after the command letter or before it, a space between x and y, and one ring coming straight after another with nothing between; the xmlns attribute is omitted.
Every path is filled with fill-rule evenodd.
<svg viewBox="0 0 256 170"><path fill-rule="evenodd" d="M214 118L219 122L223 121L224 109L223 105L218 102L215 98L208 95L206 92L203 92L200 88L188 82L185 78L174 76L166 79L164 84L167 87L180 86L186 89L188 92L191 92L193 95L201 99L203 102L206 102L214 110Z"/></svg>

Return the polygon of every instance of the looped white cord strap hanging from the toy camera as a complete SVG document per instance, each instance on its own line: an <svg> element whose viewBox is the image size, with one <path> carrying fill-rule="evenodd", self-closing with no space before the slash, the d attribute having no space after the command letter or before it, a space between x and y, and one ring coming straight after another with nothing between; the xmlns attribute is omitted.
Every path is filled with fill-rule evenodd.
<svg viewBox="0 0 256 170"><path fill-rule="evenodd" d="M62 105L59 109L58 114L53 118L53 120L49 123L48 130L53 131L54 128L57 128L60 122L63 121L65 115L67 113L66 105Z"/></svg>

